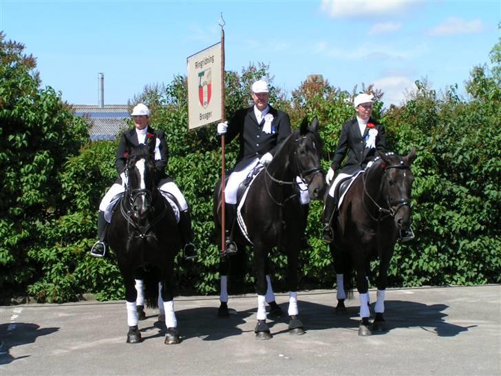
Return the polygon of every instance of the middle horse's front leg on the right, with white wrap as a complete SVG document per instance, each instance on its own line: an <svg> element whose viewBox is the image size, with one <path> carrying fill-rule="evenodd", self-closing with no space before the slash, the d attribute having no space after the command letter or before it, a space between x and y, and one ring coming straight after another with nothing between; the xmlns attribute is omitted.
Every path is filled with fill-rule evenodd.
<svg viewBox="0 0 501 376"><path fill-rule="evenodd" d="M290 237L294 238L294 237ZM289 239L290 239L289 238ZM303 335L304 326L299 320L299 309L297 307L297 259L299 255L299 236L297 242L288 242L287 251L287 286L289 290L289 334Z"/></svg>

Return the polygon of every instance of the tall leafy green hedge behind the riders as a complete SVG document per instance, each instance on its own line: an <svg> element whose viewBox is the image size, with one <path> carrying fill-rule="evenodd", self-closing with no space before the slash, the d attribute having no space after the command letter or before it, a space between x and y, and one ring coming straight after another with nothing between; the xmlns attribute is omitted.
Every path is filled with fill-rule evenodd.
<svg viewBox="0 0 501 376"><path fill-rule="evenodd" d="M499 48L495 46L494 51ZM492 56L498 56L493 54ZM39 89L34 60L23 45L0 34L0 290L4 299L32 295L40 302L78 300L95 293L100 300L124 296L116 262L88 254L96 239L100 198L116 178L116 141L89 143L88 126L61 102L61 94ZM392 286L485 284L501 282L498 131L501 119L499 61L492 70L475 67L460 98L457 87L437 95L427 83L403 107L374 117L387 128L389 149L418 150L413 165L413 242L397 244L390 265ZM226 115L248 105L248 89L268 67L251 65L226 74ZM373 87L376 98L383 93ZM317 116L324 141L323 168L330 165L341 124L354 116L346 92L330 83L301 83L287 97L273 87L271 102L290 114L293 127L303 116ZM187 132L186 81L148 87L134 101L153 110L153 127L167 132L169 174L192 211L198 262L176 258L175 281L182 294L213 294L219 289L219 251L212 222L212 194L220 178L221 148L215 126ZM226 147L232 166L236 143ZM312 202L307 227L310 247L301 251L301 288L335 284L328 247L320 240L321 202ZM251 254L248 256L251 260ZM273 251L275 289L284 289L286 259ZM375 264L374 264L375 267ZM246 287L253 291L253 277Z"/></svg>

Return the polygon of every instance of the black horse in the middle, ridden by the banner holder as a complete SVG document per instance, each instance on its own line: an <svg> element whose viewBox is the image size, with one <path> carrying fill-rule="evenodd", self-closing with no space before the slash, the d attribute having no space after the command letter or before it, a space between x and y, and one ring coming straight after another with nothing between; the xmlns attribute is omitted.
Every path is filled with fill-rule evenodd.
<svg viewBox="0 0 501 376"><path fill-rule="evenodd" d="M288 315L289 331L303 334L303 324L297 318L297 262L301 236L306 229L304 208L299 200L297 177L308 187L310 198L321 199L324 182L321 173L320 157L322 141L318 133L319 122L315 118L308 127L305 118L299 130L292 132L273 157L273 160L257 174L251 182L243 205L240 205L238 221L246 227L242 233L235 224L233 240L239 253L246 245L253 246L253 264L257 290L257 326L256 337L262 340L271 338L266 324L265 294L267 290L267 263L269 251L278 246L279 251L287 255L287 286L290 291ZM216 229L221 233L220 225L220 184L215 189L214 216ZM221 239L218 239L221 247ZM220 248L221 249L221 248ZM228 275L228 267L238 255L226 256L220 263L222 278ZM243 254L244 262L246 255ZM228 260L226 260L228 259ZM276 304L275 304L276 306ZM278 308L278 307L275 307ZM273 306L272 306L273 309ZM220 311L227 311L226 302L222 302Z"/></svg>

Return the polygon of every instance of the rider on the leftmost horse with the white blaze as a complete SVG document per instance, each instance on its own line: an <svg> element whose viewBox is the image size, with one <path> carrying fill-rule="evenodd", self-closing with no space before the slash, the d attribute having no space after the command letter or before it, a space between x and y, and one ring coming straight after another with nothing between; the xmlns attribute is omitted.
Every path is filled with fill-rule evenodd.
<svg viewBox="0 0 501 376"><path fill-rule="evenodd" d="M156 163L156 183L160 191L170 194L173 201L179 208L179 230L183 242L184 257L186 259L197 258L198 251L193 244L193 230L191 229L191 218L188 209L188 203L175 185L173 179L165 173L167 162L169 160L169 147L165 139L165 132L153 129L149 123L149 109L143 103L139 103L132 111L132 120L134 129L124 132L120 138L120 144L116 152L115 167L118 171L118 178L114 185L107 191L99 205L98 216L98 238L99 240L92 246L90 254L94 257L103 257L108 250L107 227L108 220L105 218L105 211L113 198L125 192L127 185L127 176L125 176L125 164L127 156L131 153L131 148L139 144L148 145L150 140L156 139L155 163Z"/></svg>

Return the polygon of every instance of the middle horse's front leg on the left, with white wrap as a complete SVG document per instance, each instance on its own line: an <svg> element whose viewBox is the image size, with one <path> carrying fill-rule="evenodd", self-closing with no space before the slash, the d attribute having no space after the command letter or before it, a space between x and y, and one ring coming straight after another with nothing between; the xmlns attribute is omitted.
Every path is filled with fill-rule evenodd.
<svg viewBox="0 0 501 376"><path fill-rule="evenodd" d="M270 340L271 333L266 324L266 258L268 251L265 251L259 241L254 243L254 270L256 273L257 292L257 325L254 329L257 340Z"/></svg>

